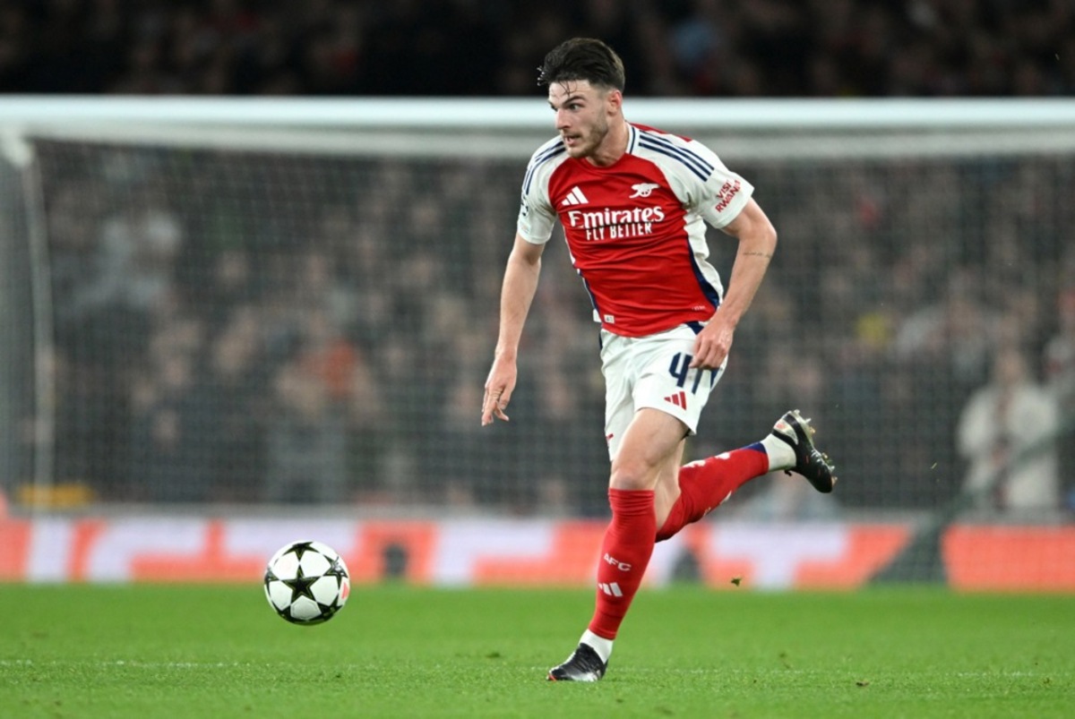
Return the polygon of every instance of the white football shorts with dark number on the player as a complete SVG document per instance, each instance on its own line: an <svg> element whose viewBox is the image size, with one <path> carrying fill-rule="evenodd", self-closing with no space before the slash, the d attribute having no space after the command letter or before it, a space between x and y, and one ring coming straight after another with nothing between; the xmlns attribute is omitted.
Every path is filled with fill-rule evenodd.
<svg viewBox="0 0 1075 719"><path fill-rule="evenodd" d="M701 327L698 327L700 330ZM728 366L691 369L697 332L680 325L645 337L624 337L601 330L601 372L605 378L605 441L615 459L619 443L643 407L660 409L698 431L698 419Z"/></svg>

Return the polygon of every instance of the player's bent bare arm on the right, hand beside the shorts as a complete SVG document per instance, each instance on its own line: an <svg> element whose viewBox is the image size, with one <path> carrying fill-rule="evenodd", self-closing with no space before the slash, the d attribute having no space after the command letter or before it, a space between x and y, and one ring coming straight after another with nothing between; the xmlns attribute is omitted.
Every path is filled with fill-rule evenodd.
<svg viewBox="0 0 1075 719"><path fill-rule="evenodd" d="M739 249L732 264L728 292L694 341L691 366L707 370L720 366L728 357L735 328L754 301L776 249L776 229L752 199L735 219L721 229L739 240Z"/></svg>

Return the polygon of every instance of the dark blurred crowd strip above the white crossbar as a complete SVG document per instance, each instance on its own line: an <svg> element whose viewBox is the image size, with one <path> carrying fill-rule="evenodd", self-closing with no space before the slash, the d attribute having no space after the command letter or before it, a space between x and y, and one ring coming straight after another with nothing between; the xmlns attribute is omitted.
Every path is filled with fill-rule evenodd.
<svg viewBox="0 0 1075 719"><path fill-rule="evenodd" d="M572 35L633 95L1062 96L1070 0L6 0L0 92L529 96Z"/></svg>

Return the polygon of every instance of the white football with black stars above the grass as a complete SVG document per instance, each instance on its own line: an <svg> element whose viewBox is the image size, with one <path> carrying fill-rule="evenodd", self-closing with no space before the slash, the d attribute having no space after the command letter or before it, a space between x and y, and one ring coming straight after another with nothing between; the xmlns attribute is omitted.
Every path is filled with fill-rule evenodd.
<svg viewBox="0 0 1075 719"><path fill-rule="evenodd" d="M319 624L335 616L350 593L347 565L320 542L292 542L266 566L266 599L293 624Z"/></svg>

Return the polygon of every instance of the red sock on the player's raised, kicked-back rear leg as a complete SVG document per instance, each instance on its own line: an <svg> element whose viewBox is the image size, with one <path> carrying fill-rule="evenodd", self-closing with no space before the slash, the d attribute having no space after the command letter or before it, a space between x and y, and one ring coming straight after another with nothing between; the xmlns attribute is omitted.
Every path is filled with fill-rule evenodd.
<svg viewBox="0 0 1075 719"><path fill-rule="evenodd" d="M662 542L731 497L736 489L769 472L769 456L761 444L727 451L679 468L679 499L657 532Z"/></svg>

